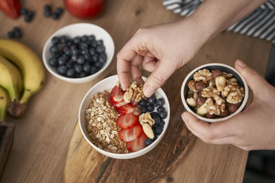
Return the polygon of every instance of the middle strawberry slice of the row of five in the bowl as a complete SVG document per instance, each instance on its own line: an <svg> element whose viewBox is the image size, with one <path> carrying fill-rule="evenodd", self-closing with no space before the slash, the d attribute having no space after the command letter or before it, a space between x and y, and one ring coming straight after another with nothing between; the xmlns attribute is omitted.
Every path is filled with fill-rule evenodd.
<svg viewBox="0 0 275 183"><path fill-rule="evenodd" d="M116 120L116 123L122 128L122 129L129 129L131 127L134 127L138 123L138 117L133 114L133 112L128 114L122 114L118 119Z"/></svg>

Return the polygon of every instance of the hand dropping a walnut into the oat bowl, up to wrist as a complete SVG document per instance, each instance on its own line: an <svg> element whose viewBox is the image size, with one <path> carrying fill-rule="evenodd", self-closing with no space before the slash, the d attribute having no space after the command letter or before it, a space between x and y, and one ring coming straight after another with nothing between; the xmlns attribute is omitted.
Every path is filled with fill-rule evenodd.
<svg viewBox="0 0 275 183"><path fill-rule="evenodd" d="M176 69L186 64L209 38L199 23L182 21L139 29L117 55L118 78L123 90L133 81L143 82L142 69L152 72L144 83L150 97Z"/></svg>

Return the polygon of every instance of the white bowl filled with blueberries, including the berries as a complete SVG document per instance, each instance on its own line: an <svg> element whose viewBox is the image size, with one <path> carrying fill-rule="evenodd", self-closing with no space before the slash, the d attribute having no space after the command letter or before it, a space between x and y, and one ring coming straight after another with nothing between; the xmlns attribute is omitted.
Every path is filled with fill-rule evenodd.
<svg viewBox="0 0 275 183"><path fill-rule="evenodd" d="M52 75L72 83L95 80L113 59L110 34L91 23L58 29L44 45L43 62Z"/></svg>

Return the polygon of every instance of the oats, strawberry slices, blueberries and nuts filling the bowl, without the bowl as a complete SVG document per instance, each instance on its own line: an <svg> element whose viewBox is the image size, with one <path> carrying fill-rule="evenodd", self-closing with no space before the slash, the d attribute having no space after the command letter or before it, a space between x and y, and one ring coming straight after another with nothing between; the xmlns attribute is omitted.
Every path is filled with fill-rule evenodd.
<svg viewBox="0 0 275 183"><path fill-rule="evenodd" d="M198 97L193 94L192 97ZM143 95L143 84L131 82L124 92L117 84L96 93L86 110L86 126L94 145L112 153L138 151L163 132L167 112L164 98Z"/></svg>

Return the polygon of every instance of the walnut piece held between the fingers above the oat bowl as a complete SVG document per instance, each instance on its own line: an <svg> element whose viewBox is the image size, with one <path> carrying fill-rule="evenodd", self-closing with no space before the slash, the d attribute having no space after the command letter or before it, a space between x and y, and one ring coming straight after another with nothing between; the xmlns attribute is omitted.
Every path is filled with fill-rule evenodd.
<svg viewBox="0 0 275 183"><path fill-rule="evenodd" d="M142 98L144 98L143 94L143 84L138 84L137 82L131 82L126 92L124 93L124 101L130 103L134 101L138 103Z"/></svg>

